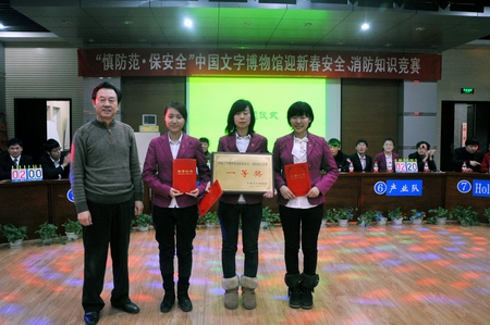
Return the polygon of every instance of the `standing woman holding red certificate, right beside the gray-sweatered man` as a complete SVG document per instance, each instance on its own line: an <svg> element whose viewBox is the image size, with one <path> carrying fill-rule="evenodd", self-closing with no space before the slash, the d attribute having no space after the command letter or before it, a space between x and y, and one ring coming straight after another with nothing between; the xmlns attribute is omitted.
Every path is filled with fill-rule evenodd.
<svg viewBox="0 0 490 325"><path fill-rule="evenodd" d="M210 180L210 172L200 141L183 132L187 120L185 105L177 101L171 102L163 109L163 115L169 132L150 141L142 176L143 182L154 192L151 213L166 291L160 311L170 312L175 302L173 257L176 251L179 307L184 312L189 312L193 304L187 291L193 264L193 240L198 218L197 197L205 192ZM188 162L194 162L194 165L183 164ZM196 166L200 180L197 186ZM193 177L191 188L184 189L189 185L189 182L185 180L188 174Z"/></svg>

